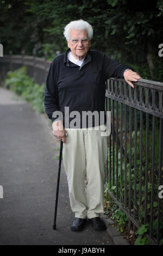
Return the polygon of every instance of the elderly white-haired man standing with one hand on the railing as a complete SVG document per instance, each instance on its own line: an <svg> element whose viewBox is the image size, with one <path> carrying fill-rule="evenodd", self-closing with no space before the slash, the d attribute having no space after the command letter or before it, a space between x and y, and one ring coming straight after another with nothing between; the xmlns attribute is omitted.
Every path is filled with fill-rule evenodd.
<svg viewBox="0 0 163 256"><path fill-rule="evenodd" d="M49 68L45 111L53 122L53 135L64 142L63 161L71 209L75 215L71 230L82 230L86 218L93 229L103 230L105 224L100 216L104 211L104 165L108 145L107 137L101 136L101 130L104 130L106 118L102 122L84 122L82 113L100 114L105 111L105 81L109 77L124 78L133 88L132 81L141 77L129 66L112 60L104 53L89 50L93 29L86 21L68 23L64 35L68 49L54 58ZM69 107L70 115L65 107ZM64 120L59 118L59 111ZM80 114L80 118L72 128L74 111Z"/></svg>

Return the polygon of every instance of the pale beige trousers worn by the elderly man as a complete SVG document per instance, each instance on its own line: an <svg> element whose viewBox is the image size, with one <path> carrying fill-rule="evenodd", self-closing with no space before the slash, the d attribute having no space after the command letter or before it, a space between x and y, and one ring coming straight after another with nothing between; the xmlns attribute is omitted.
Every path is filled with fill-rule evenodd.
<svg viewBox="0 0 163 256"><path fill-rule="evenodd" d="M104 126L96 126L96 129ZM93 129L93 130L92 130ZM99 217L104 211L104 165L107 137L101 130L66 129L63 162L68 180L71 209L78 218ZM87 175L85 193L84 175Z"/></svg>

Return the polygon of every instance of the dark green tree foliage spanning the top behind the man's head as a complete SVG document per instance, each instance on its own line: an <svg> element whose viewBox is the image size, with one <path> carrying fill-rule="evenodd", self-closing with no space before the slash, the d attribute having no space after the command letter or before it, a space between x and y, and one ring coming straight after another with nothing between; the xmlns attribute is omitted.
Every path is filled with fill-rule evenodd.
<svg viewBox="0 0 163 256"><path fill-rule="evenodd" d="M162 41L163 1L134 0L13 0L0 3L0 41L4 54L12 50L32 55L55 57L65 52L64 27L72 20L83 19L93 27L91 48L109 54L122 64L131 63L143 78L163 81L162 60L158 45ZM147 54L152 54L151 71Z"/></svg>

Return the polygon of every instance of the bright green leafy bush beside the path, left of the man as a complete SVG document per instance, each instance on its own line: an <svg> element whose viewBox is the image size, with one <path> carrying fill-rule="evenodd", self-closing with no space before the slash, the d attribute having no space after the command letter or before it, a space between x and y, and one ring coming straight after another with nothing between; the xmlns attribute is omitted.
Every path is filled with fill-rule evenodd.
<svg viewBox="0 0 163 256"><path fill-rule="evenodd" d="M45 84L40 86L35 83L34 79L27 75L26 66L15 71L9 71L4 86L20 95L23 100L29 101L39 113L45 112L43 105Z"/></svg>

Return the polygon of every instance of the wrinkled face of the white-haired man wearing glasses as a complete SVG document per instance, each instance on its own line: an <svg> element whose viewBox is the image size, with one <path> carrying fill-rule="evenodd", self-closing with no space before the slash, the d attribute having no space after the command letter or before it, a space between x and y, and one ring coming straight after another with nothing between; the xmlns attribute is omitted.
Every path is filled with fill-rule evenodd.
<svg viewBox="0 0 163 256"><path fill-rule="evenodd" d="M67 45L71 49L74 58L78 60L83 59L91 45L87 31L72 29Z"/></svg>

